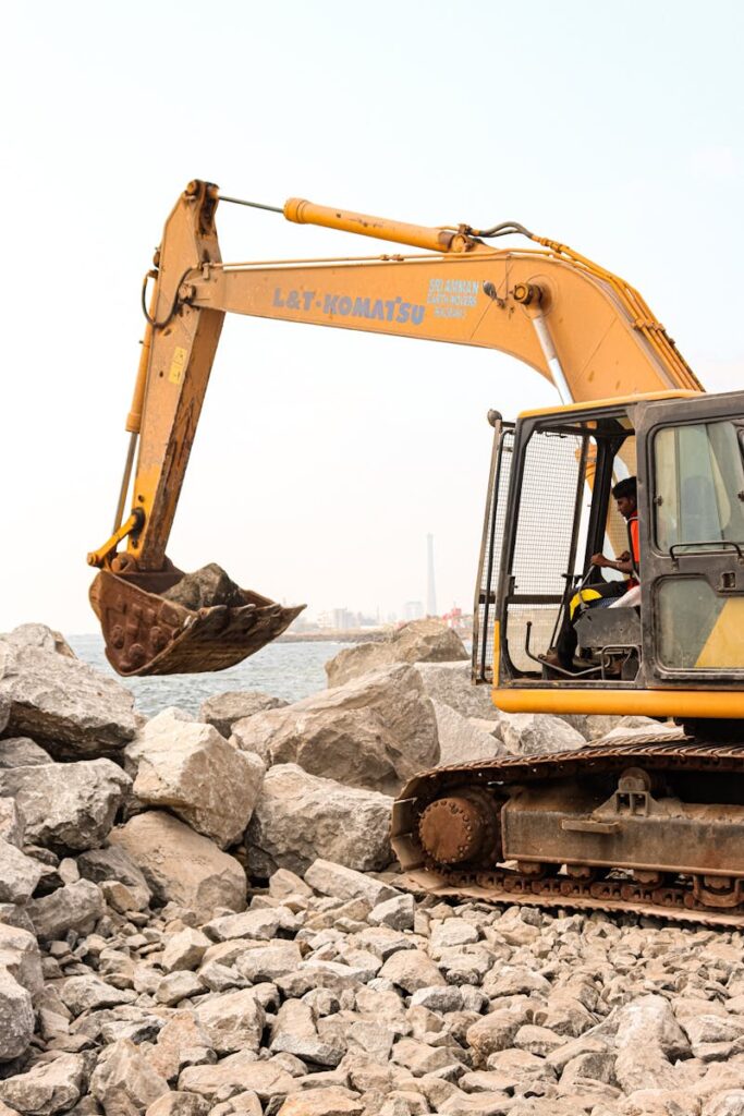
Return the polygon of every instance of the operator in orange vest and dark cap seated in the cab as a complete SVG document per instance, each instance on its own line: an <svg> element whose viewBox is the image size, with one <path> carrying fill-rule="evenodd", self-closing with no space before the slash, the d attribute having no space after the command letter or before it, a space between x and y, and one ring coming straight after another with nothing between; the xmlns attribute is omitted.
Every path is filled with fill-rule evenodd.
<svg viewBox="0 0 744 1116"><path fill-rule="evenodd" d="M618 511L628 525L630 550L624 550L617 558L606 558L602 554L596 554L591 556L590 564L599 569L617 569L621 574L628 574L628 579L627 581L599 581L579 589L574 594L566 609L555 646L542 656L548 666L560 666L564 671L573 671L573 655L578 643L573 623L579 619L583 608L613 608L625 604L629 606L637 604L637 594L626 600L630 590L637 588L639 584L636 576L640 559L637 479L627 477L625 480L618 481L612 489L612 496Z"/></svg>

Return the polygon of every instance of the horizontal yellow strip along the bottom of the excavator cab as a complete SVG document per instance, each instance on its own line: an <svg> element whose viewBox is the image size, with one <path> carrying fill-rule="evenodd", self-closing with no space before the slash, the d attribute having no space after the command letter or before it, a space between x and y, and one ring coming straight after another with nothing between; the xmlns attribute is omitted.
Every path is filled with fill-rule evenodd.
<svg viewBox="0 0 744 1116"><path fill-rule="evenodd" d="M731 690L494 689L491 696L504 713L744 719L744 692Z"/></svg>

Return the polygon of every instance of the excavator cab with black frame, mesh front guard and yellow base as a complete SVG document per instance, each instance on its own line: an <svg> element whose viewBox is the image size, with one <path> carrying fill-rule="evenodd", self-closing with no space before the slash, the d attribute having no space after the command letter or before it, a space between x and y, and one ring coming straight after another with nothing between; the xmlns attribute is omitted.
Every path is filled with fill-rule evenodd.
<svg viewBox="0 0 744 1116"><path fill-rule="evenodd" d="M744 393L491 421L474 680L512 712L744 718ZM640 599L624 605L622 586L603 600L591 591L624 576L591 557L630 549L611 494L629 475ZM567 624L577 655L561 668L549 652Z"/></svg>

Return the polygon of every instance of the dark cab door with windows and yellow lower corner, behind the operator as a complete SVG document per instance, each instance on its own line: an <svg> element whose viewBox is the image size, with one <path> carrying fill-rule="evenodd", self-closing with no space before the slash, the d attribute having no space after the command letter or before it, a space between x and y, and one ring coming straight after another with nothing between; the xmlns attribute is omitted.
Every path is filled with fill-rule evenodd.
<svg viewBox="0 0 744 1116"><path fill-rule="evenodd" d="M744 393L638 404L646 685L744 681Z"/></svg>

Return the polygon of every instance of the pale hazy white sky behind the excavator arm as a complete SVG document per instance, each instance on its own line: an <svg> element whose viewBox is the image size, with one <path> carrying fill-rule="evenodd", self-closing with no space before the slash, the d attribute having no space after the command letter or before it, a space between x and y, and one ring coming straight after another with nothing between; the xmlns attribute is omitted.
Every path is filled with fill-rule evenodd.
<svg viewBox="0 0 744 1116"><path fill-rule="evenodd" d="M743 386L737 0L4 6L0 631L96 629L139 289L193 177L418 224L506 219L646 297ZM228 260L371 241L222 205ZM370 248L370 246L373 246ZM496 407L558 396L493 352L230 318L168 547L309 612L472 603ZM549 531L549 528L548 528Z"/></svg>

